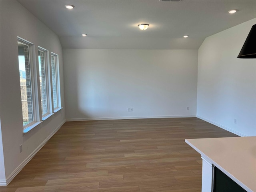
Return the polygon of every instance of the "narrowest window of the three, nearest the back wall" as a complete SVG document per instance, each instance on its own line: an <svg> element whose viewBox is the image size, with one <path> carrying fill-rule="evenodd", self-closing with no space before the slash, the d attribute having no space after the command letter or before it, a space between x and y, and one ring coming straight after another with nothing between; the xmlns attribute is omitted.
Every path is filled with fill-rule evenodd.
<svg viewBox="0 0 256 192"><path fill-rule="evenodd" d="M58 55L51 53L51 68L52 68L52 97L53 108L56 110L60 108L60 90L58 78Z"/></svg>

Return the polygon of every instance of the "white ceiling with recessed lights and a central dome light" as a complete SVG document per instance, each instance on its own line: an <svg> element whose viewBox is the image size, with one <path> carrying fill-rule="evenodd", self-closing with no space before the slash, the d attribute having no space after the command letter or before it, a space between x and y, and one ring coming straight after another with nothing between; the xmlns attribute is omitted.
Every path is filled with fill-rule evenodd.
<svg viewBox="0 0 256 192"><path fill-rule="evenodd" d="M58 34L63 48L198 49L206 37L256 18L256 0L19 2ZM229 14L232 9L238 12ZM142 31L140 23L150 26Z"/></svg>

